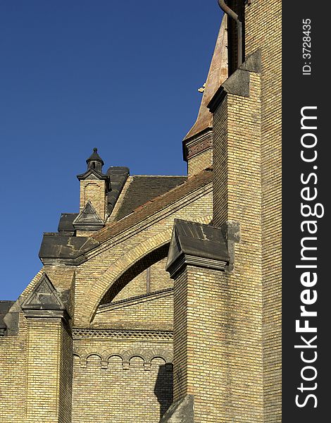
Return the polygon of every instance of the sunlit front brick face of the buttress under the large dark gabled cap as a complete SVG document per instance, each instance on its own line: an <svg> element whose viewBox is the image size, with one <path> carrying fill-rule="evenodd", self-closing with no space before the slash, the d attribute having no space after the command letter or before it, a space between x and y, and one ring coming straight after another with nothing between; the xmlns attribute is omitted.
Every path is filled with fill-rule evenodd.
<svg viewBox="0 0 331 423"><path fill-rule="evenodd" d="M231 421L226 288L220 271L187 267L187 393L194 395L196 423Z"/></svg>

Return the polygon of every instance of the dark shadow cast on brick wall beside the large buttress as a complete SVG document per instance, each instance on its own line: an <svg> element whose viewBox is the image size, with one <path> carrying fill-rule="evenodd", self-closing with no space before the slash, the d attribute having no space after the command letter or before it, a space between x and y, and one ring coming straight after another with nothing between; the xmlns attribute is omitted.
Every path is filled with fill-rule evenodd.
<svg viewBox="0 0 331 423"><path fill-rule="evenodd" d="M154 393L160 404L161 418L173 403L173 367L171 364L161 364L158 368Z"/></svg>

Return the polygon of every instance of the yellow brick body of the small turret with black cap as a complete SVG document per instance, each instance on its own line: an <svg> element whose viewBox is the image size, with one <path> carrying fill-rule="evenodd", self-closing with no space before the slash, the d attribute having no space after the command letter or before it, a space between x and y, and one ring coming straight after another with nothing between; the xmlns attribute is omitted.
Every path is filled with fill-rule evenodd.
<svg viewBox="0 0 331 423"><path fill-rule="evenodd" d="M81 180L80 181L80 212L85 204L90 201L96 213L105 219L106 213L106 185L104 180Z"/></svg>

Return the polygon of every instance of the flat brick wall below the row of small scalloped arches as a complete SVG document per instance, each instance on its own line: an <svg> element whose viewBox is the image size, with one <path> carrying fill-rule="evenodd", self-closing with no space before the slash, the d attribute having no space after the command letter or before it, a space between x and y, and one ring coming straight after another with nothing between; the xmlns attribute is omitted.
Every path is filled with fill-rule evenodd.
<svg viewBox="0 0 331 423"><path fill-rule="evenodd" d="M73 423L154 423L173 402L173 374L161 358L148 370L141 357L132 357L127 369L116 356L107 369L96 355L84 369L78 358L74 363Z"/></svg>

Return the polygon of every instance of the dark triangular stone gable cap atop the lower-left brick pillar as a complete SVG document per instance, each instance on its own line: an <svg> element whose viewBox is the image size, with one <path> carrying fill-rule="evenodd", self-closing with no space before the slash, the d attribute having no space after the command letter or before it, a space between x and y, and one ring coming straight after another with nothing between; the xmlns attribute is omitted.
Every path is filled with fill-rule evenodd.
<svg viewBox="0 0 331 423"><path fill-rule="evenodd" d="M34 310L64 310L56 288L44 273L32 293L23 302L22 308Z"/></svg>

